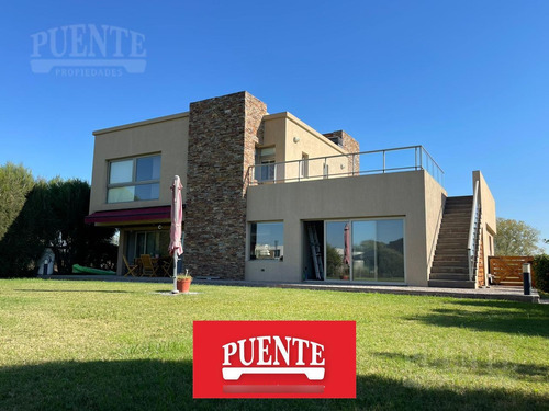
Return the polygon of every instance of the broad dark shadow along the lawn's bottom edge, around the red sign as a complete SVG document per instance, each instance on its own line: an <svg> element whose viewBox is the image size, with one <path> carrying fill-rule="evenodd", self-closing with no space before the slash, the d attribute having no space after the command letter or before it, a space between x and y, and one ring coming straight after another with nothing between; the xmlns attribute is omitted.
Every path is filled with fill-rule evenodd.
<svg viewBox="0 0 549 411"><path fill-rule="evenodd" d="M542 410L549 398L508 389L425 388L357 377L357 399L192 399L192 363L153 359L48 363L0 368L2 410Z"/></svg>

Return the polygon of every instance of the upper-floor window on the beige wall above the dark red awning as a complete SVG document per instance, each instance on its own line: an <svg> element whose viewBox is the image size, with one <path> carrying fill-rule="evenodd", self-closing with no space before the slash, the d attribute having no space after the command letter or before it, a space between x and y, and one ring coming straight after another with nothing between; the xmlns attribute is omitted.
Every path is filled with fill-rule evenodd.
<svg viewBox="0 0 549 411"><path fill-rule="evenodd" d="M158 199L160 156L137 157L109 163L107 203Z"/></svg>

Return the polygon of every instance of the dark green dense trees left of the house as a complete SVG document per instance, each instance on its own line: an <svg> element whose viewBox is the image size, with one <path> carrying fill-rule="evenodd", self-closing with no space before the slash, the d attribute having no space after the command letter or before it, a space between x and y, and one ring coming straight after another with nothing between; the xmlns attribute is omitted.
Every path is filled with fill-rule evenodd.
<svg viewBox="0 0 549 411"><path fill-rule="evenodd" d="M0 276L35 273L45 248L55 253L58 273L70 273L78 263L114 267L114 229L86 225L90 186L80 180L38 180L24 206L0 241Z"/></svg>

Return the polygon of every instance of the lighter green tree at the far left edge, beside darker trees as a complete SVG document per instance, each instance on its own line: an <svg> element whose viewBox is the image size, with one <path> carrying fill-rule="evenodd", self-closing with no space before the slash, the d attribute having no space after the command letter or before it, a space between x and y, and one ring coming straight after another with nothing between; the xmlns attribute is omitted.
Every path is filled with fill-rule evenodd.
<svg viewBox="0 0 549 411"><path fill-rule="evenodd" d="M23 209L33 186L32 173L23 165L8 162L0 167L0 240Z"/></svg>

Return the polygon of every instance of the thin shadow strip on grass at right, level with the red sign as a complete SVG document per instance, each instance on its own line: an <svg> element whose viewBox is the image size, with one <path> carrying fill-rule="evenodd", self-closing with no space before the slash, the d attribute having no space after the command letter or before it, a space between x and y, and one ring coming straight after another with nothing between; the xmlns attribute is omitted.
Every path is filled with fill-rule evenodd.
<svg viewBox="0 0 549 411"><path fill-rule="evenodd" d="M517 380L549 383L549 367L545 365L485 361L464 356L440 359L425 354L374 353L374 355L388 359L410 362L423 368L449 369L451 367L479 376L498 375Z"/></svg>

